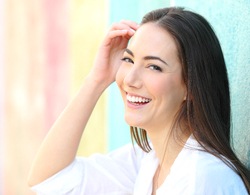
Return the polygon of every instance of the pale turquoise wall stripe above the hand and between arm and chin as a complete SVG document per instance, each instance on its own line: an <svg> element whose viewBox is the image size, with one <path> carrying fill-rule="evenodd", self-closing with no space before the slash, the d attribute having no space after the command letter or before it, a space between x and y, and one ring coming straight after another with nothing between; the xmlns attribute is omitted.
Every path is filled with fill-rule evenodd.
<svg viewBox="0 0 250 195"><path fill-rule="evenodd" d="M169 1L110 0L109 24L122 19L140 22L152 9L169 6ZM124 107L116 84L108 90L108 149L113 150L131 141L129 126L124 121Z"/></svg>

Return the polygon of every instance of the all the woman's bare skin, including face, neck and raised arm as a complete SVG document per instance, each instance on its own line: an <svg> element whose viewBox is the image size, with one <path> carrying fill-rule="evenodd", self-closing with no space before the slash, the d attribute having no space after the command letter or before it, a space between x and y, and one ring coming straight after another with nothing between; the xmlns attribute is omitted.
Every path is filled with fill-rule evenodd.
<svg viewBox="0 0 250 195"><path fill-rule="evenodd" d="M155 24L145 24L138 28L132 21L121 21L111 27L82 87L43 141L30 170L30 186L46 180L73 162L89 117L99 97L115 78L124 99L126 121L147 130L161 162L154 178L153 193L164 181L182 149L168 135L186 90L172 37ZM162 42L166 44L160 44ZM134 56L124 53L126 48ZM144 57L148 55L160 57L167 65L155 59L145 60ZM121 61L124 57L129 57L133 63L128 59ZM153 65L160 66L162 72ZM137 106L127 103L126 93L149 98L150 102L137 109ZM165 148L162 147L164 145Z"/></svg>

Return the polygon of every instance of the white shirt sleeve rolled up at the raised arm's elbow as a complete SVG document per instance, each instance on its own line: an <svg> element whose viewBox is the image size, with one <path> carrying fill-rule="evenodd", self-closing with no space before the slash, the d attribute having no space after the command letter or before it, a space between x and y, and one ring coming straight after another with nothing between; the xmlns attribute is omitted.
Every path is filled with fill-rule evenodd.
<svg viewBox="0 0 250 195"><path fill-rule="evenodd" d="M128 195L144 152L128 144L107 155L77 157L68 167L32 187L38 195Z"/></svg>

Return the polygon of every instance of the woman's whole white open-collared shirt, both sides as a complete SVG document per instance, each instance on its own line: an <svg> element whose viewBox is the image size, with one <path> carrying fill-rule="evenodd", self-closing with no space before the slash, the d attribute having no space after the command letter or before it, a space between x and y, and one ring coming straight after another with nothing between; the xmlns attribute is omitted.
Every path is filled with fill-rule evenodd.
<svg viewBox="0 0 250 195"><path fill-rule="evenodd" d="M247 195L231 168L197 148L190 137L157 195ZM129 144L107 155L78 157L32 190L39 195L151 195L157 167L154 151L145 153Z"/></svg>

